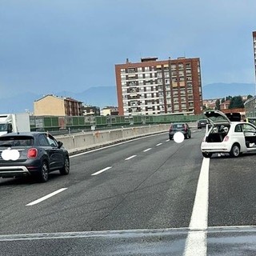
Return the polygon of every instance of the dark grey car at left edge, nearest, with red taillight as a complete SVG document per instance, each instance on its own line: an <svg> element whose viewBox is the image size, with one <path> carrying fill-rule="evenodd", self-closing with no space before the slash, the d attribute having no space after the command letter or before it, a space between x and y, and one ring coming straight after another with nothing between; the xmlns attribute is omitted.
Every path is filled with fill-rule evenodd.
<svg viewBox="0 0 256 256"><path fill-rule="evenodd" d="M47 182L49 173L70 173L68 151L46 132L10 133L0 137L0 177L33 175Z"/></svg>

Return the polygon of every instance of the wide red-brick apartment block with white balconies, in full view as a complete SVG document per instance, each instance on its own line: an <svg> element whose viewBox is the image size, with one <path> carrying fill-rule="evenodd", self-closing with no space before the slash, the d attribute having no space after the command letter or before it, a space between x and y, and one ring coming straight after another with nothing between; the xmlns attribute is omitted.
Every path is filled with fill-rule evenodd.
<svg viewBox="0 0 256 256"><path fill-rule="evenodd" d="M120 115L202 114L199 58L115 65Z"/></svg>

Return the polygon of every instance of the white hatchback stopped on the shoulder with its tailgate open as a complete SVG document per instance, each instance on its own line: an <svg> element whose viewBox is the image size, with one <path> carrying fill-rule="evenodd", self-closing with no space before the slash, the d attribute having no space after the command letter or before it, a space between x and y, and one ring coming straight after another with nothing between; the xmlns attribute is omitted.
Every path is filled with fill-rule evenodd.
<svg viewBox="0 0 256 256"><path fill-rule="evenodd" d="M238 157L242 153L256 152L256 126L250 122L238 122L239 116L229 117L218 110L204 113L210 121L210 128L201 143L202 155L210 158L214 153L229 153Z"/></svg>

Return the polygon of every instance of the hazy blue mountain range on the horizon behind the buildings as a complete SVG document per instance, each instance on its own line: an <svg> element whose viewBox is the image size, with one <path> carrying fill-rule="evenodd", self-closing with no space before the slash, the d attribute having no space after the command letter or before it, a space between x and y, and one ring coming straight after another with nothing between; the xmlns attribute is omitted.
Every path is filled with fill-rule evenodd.
<svg viewBox="0 0 256 256"><path fill-rule="evenodd" d="M250 83L213 83L202 87L202 98L226 98L227 96L254 95L255 85ZM47 92L46 92L47 94ZM115 86L91 87L81 93L71 91L60 91L54 93L59 97L71 97L83 102L86 105L99 106L118 106L117 91ZM13 97L0 95L0 114L18 113L34 111L33 103L42 98L42 94L21 93Z"/></svg>

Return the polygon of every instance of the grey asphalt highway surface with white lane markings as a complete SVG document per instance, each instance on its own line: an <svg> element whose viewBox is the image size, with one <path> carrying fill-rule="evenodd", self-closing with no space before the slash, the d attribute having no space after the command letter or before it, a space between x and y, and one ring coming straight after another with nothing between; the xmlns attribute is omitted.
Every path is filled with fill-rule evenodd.
<svg viewBox="0 0 256 256"><path fill-rule="evenodd" d="M190 230L254 226L255 154L202 158L203 134L75 155L70 175L43 184L0 179L0 255L189 255Z"/></svg>

